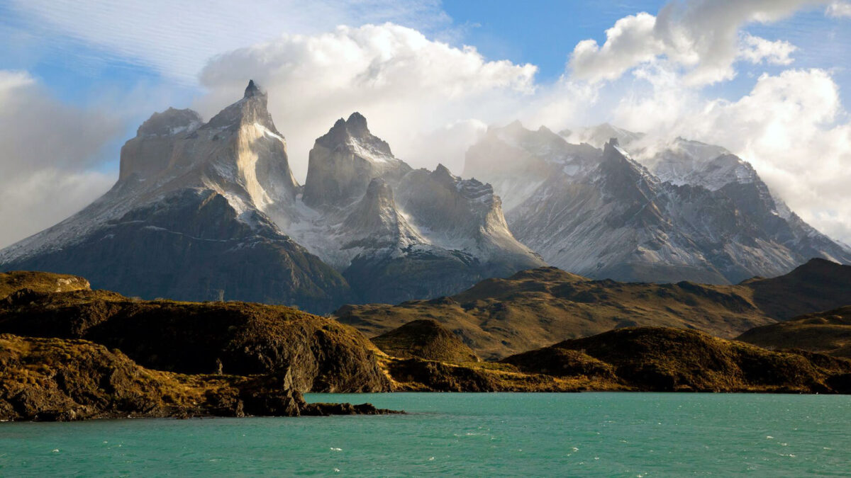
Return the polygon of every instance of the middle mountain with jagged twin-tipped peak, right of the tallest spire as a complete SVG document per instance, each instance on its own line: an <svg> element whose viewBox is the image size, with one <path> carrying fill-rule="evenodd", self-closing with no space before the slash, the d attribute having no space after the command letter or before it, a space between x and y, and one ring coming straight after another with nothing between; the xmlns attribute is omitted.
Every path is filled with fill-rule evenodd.
<svg viewBox="0 0 851 478"><path fill-rule="evenodd" d="M431 298L543 264L511 236L489 185L413 170L358 113L317 139L293 236L367 302ZM307 217L308 214L305 214Z"/></svg>

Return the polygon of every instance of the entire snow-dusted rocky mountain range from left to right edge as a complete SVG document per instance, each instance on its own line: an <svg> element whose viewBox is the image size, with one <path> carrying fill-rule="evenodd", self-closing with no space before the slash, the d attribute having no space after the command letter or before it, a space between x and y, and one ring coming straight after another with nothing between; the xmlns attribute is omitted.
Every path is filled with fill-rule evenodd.
<svg viewBox="0 0 851 478"><path fill-rule="evenodd" d="M718 146L651 148L609 125L555 134L514 122L471 146L462 179L411 168L355 112L316 139L300 185L267 99L251 81L208 122L155 113L123 145L111 190L0 251L0 270L85 276L144 299L328 313L452 296L545 265L730 284L814 257L851 263L851 249Z"/></svg>

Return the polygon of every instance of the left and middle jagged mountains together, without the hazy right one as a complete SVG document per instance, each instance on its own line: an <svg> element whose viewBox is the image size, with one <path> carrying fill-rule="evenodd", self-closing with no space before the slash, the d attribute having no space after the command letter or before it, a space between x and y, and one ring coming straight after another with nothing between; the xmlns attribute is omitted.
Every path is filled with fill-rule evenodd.
<svg viewBox="0 0 851 478"><path fill-rule="evenodd" d="M455 293L542 264L511 236L487 185L413 171L358 113L317 139L302 187L266 102L250 82L208 122L190 110L154 114L124 145L111 191L0 251L0 270L77 273L146 299L324 313Z"/></svg>

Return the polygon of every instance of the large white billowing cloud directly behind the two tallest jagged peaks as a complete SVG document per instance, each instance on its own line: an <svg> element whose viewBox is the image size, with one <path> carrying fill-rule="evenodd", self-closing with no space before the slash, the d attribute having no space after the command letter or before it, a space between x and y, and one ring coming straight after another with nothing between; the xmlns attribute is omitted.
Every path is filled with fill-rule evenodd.
<svg viewBox="0 0 851 478"><path fill-rule="evenodd" d="M458 125L470 124L459 123L464 120L516 113L520 99L534 94L536 71L534 65L485 60L476 48L455 48L404 26L340 26L216 56L201 73L208 95L196 106L209 117L240 98L248 78L258 81L288 139L296 177L306 175L313 140L352 111L363 113L397 156L433 167L445 159L420 149L423 134L448 131L453 123L449 129L457 133ZM465 131L474 134L474 128ZM460 162L466 143L457 137L451 143L454 152L440 154Z"/></svg>

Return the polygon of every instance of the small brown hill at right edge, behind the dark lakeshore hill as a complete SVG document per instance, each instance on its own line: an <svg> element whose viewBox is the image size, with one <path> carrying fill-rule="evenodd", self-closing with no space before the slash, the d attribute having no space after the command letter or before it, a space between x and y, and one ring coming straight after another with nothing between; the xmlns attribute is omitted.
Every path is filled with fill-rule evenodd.
<svg viewBox="0 0 851 478"><path fill-rule="evenodd" d="M802 349L851 358L851 306L751 328L736 339L769 349Z"/></svg>

